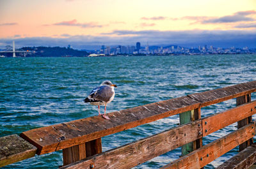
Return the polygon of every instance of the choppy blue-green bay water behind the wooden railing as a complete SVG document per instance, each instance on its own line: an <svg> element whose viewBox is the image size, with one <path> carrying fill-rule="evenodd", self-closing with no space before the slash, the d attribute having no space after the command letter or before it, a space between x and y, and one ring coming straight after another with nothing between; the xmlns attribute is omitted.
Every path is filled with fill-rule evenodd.
<svg viewBox="0 0 256 169"><path fill-rule="evenodd" d="M97 115L83 99L103 80L118 85L107 111L113 112L194 92L256 80L256 55L180 55L141 57L0 58L0 136ZM255 100L255 94L252 99ZM202 117L235 107L236 100L202 109ZM101 109L103 112L104 109ZM102 138L106 151L160 133L179 123L178 115ZM204 138L227 135L236 124ZM214 168L237 148L205 168ZM180 149L135 168L159 168L179 158ZM61 151L35 156L5 168L58 168Z"/></svg>

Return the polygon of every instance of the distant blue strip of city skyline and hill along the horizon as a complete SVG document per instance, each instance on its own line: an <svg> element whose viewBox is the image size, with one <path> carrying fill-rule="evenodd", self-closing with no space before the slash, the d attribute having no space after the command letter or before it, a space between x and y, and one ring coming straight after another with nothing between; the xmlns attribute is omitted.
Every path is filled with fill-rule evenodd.
<svg viewBox="0 0 256 169"><path fill-rule="evenodd" d="M14 45L13 41L13 45ZM10 57L13 53L15 57L16 51L18 57L72 57L72 56L105 56L105 55L209 55L209 54L255 54L256 48L221 48L221 47L207 47L207 45L198 46L196 48L180 47L179 45L169 45L166 47L149 46L148 43L145 47L141 46L140 42L134 45L117 45L105 46L102 45L100 49L95 50L77 50L72 48L71 45L67 47L22 47L15 48L7 45L4 49L0 48L1 57ZM20 53L21 52L21 53ZM56 53L57 52L57 53Z"/></svg>

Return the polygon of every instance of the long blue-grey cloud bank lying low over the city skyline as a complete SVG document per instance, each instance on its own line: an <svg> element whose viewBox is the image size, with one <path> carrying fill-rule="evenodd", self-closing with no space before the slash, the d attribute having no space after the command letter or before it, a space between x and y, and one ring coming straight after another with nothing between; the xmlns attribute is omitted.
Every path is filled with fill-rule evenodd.
<svg viewBox="0 0 256 169"><path fill-rule="evenodd" d="M56 37L31 37L15 38L15 45L22 46L60 46L77 49L98 49L100 45L135 45L137 41L141 45L180 45L183 47L198 47L198 45L212 45L214 47L250 47L256 48L256 30L244 31L131 31L116 30L111 33L102 33L100 36L76 35ZM10 39L0 39L3 48L12 44Z"/></svg>

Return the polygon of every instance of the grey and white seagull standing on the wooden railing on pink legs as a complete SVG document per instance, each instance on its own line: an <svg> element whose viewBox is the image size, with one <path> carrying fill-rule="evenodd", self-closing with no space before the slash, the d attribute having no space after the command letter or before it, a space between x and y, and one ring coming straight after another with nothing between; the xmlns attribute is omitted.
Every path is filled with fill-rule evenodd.
<svg viewBox="0 0 256 169"><path fill-rule="evenodd" d="M99 87L95 87L92 92L84 99L84 103L90 103L91 105L98 105L99 116L102 115L104 119L109 117L106 115L107 104L110 103L115 97L114 87L117 87L115 84L112 84L109 80L105 80L100 84ZM104 114L100 114L100 105L104 105Z"/></svg>

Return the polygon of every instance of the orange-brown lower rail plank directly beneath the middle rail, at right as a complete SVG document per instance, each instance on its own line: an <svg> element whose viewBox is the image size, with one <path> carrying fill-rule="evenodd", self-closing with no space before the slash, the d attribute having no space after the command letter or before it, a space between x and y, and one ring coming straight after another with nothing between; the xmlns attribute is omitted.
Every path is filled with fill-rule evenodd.
<svg viewBox="0 0 256 169"><path fill-rule="evenodd" d="M255 135L255 124L248 124L227 136L223 136L162 168L202 168L214 159L246 142Z"/></svg>

